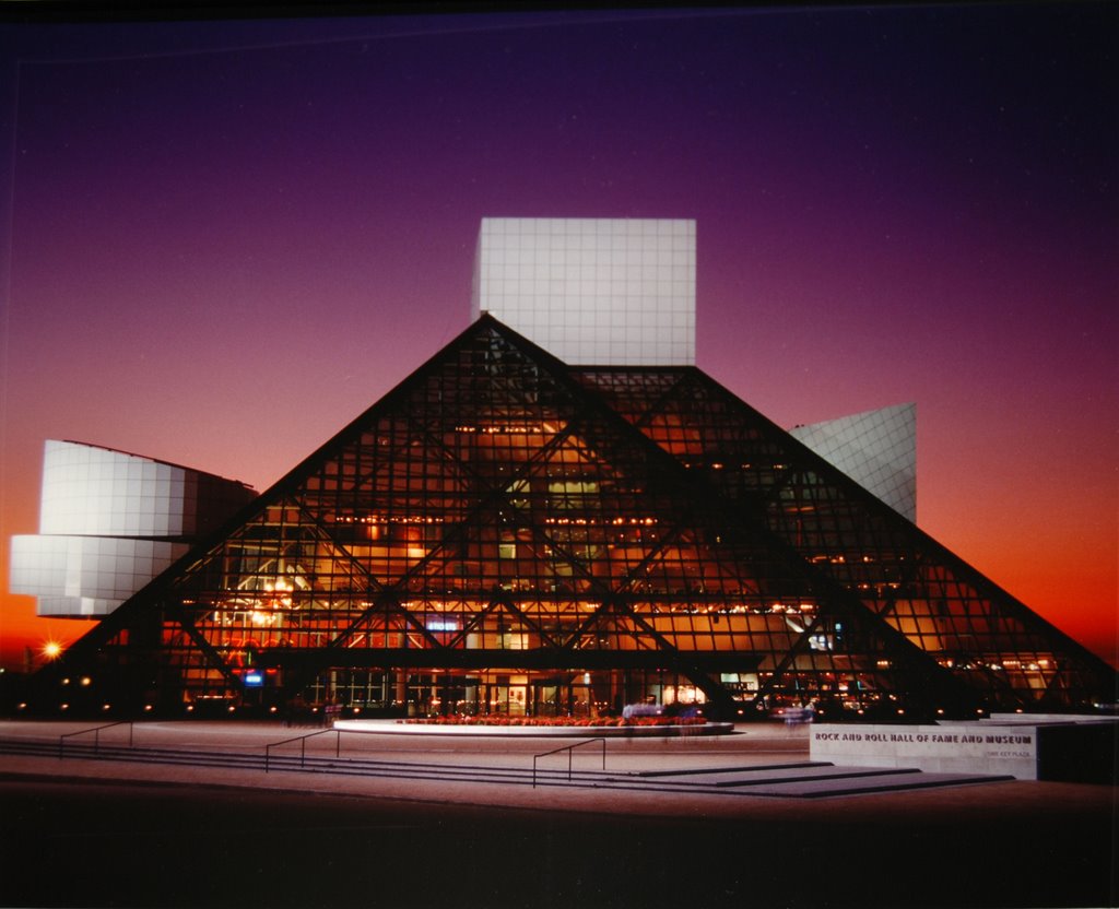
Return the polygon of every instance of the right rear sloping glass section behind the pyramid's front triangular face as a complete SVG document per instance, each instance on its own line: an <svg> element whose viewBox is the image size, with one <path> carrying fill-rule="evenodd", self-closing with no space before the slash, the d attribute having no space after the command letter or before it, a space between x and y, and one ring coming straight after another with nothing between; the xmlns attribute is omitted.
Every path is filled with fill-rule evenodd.
<svg viewBox="0 0 1119 909"><path fill-rule="evenodd" d="M666 450L679 448L686 435L690 444L678 457L689 469L705 472L735 504L764 508L771 530L984 701L1089 706L1113 690L1115 671L1103 660L700 371L650 373L667 385L652 405L643 394L652 383L640 381L639 368L580 372ZM668 383L666 373L677 377ZM779 462L768 462L774 452ZM806 514L815 533L806 532ZM949 621L952 612L956 620Z"/></svg>

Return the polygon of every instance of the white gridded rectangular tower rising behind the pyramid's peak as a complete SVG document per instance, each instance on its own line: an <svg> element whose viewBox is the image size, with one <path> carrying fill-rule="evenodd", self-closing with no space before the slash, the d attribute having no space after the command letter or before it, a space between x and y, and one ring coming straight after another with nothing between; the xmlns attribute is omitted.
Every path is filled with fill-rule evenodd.
<svg viewBox="0 0 1119 909"><path fill-rule="evenodd" d="M694 365L696 223L483 218L482 311L573 365Z"/></svg>

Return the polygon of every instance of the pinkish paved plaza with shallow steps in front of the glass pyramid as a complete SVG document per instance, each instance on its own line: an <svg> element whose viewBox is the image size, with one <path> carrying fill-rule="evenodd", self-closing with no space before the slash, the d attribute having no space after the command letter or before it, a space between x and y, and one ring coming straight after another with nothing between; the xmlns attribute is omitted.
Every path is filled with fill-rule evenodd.
<svg viewBox="0 0 1119 909"><path fill-rule="evenodd" d="M956 780L928 774L896 776L865 768L814 767L808 757L808 728L772 723L741 725L733 735L604 742L592 741L593 735L564 741L495 733L448 735L436 728L431 734L403 737L339 734L279 723L138 722L96 733L91 731L94 725L0 722L0 749L4 743L41 746L40 753L0 753L0 774L652 816L761 816L771 812L787 816L790 806L784 799L791 797L824 796L828 810L882 815L938 813L959 803L995 809L1004 803L1044 800L1056 793L1064 802L1072 798L1087 805L1110 793L1108 787L1068 789L1057 784L1021 781L924 791L928 786ZM545 755L575 741L583 744ZM92 753L95 744L98 753ZM173 763L129 759L145 751L184 758ZM191 757L200 755L216 760L200 765ZM576 786L564 785L568 776ZM774 799L781 803L773 804Z"/></svg>

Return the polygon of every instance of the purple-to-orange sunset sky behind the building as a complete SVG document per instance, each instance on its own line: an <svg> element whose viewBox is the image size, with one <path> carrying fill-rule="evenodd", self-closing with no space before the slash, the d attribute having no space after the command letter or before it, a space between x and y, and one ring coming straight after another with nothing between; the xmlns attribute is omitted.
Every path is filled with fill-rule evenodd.
<svg viewBox="0 0 1119 909"><path fill-rule="evenodd" d="M466 327L481 217L690 217L699 366L915 401L919 524L1113 659L1117 9L0 25L0 585L45 439L263 489ZM31 602L0 650L84 629Z"/></svg>

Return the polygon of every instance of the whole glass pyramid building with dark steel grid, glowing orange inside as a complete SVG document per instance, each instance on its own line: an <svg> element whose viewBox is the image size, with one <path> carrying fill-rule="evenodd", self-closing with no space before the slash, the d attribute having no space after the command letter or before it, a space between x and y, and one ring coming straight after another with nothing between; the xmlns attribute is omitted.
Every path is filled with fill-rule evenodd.
<svg viewBox="0 0 1119 909"><path fill-rule="evenodd" d="M577 715L652 696L919 719L1116 691L1104 662L698 368L568 366L488 315L46 684L78 674L91 706L180 714Z"/></svg>

